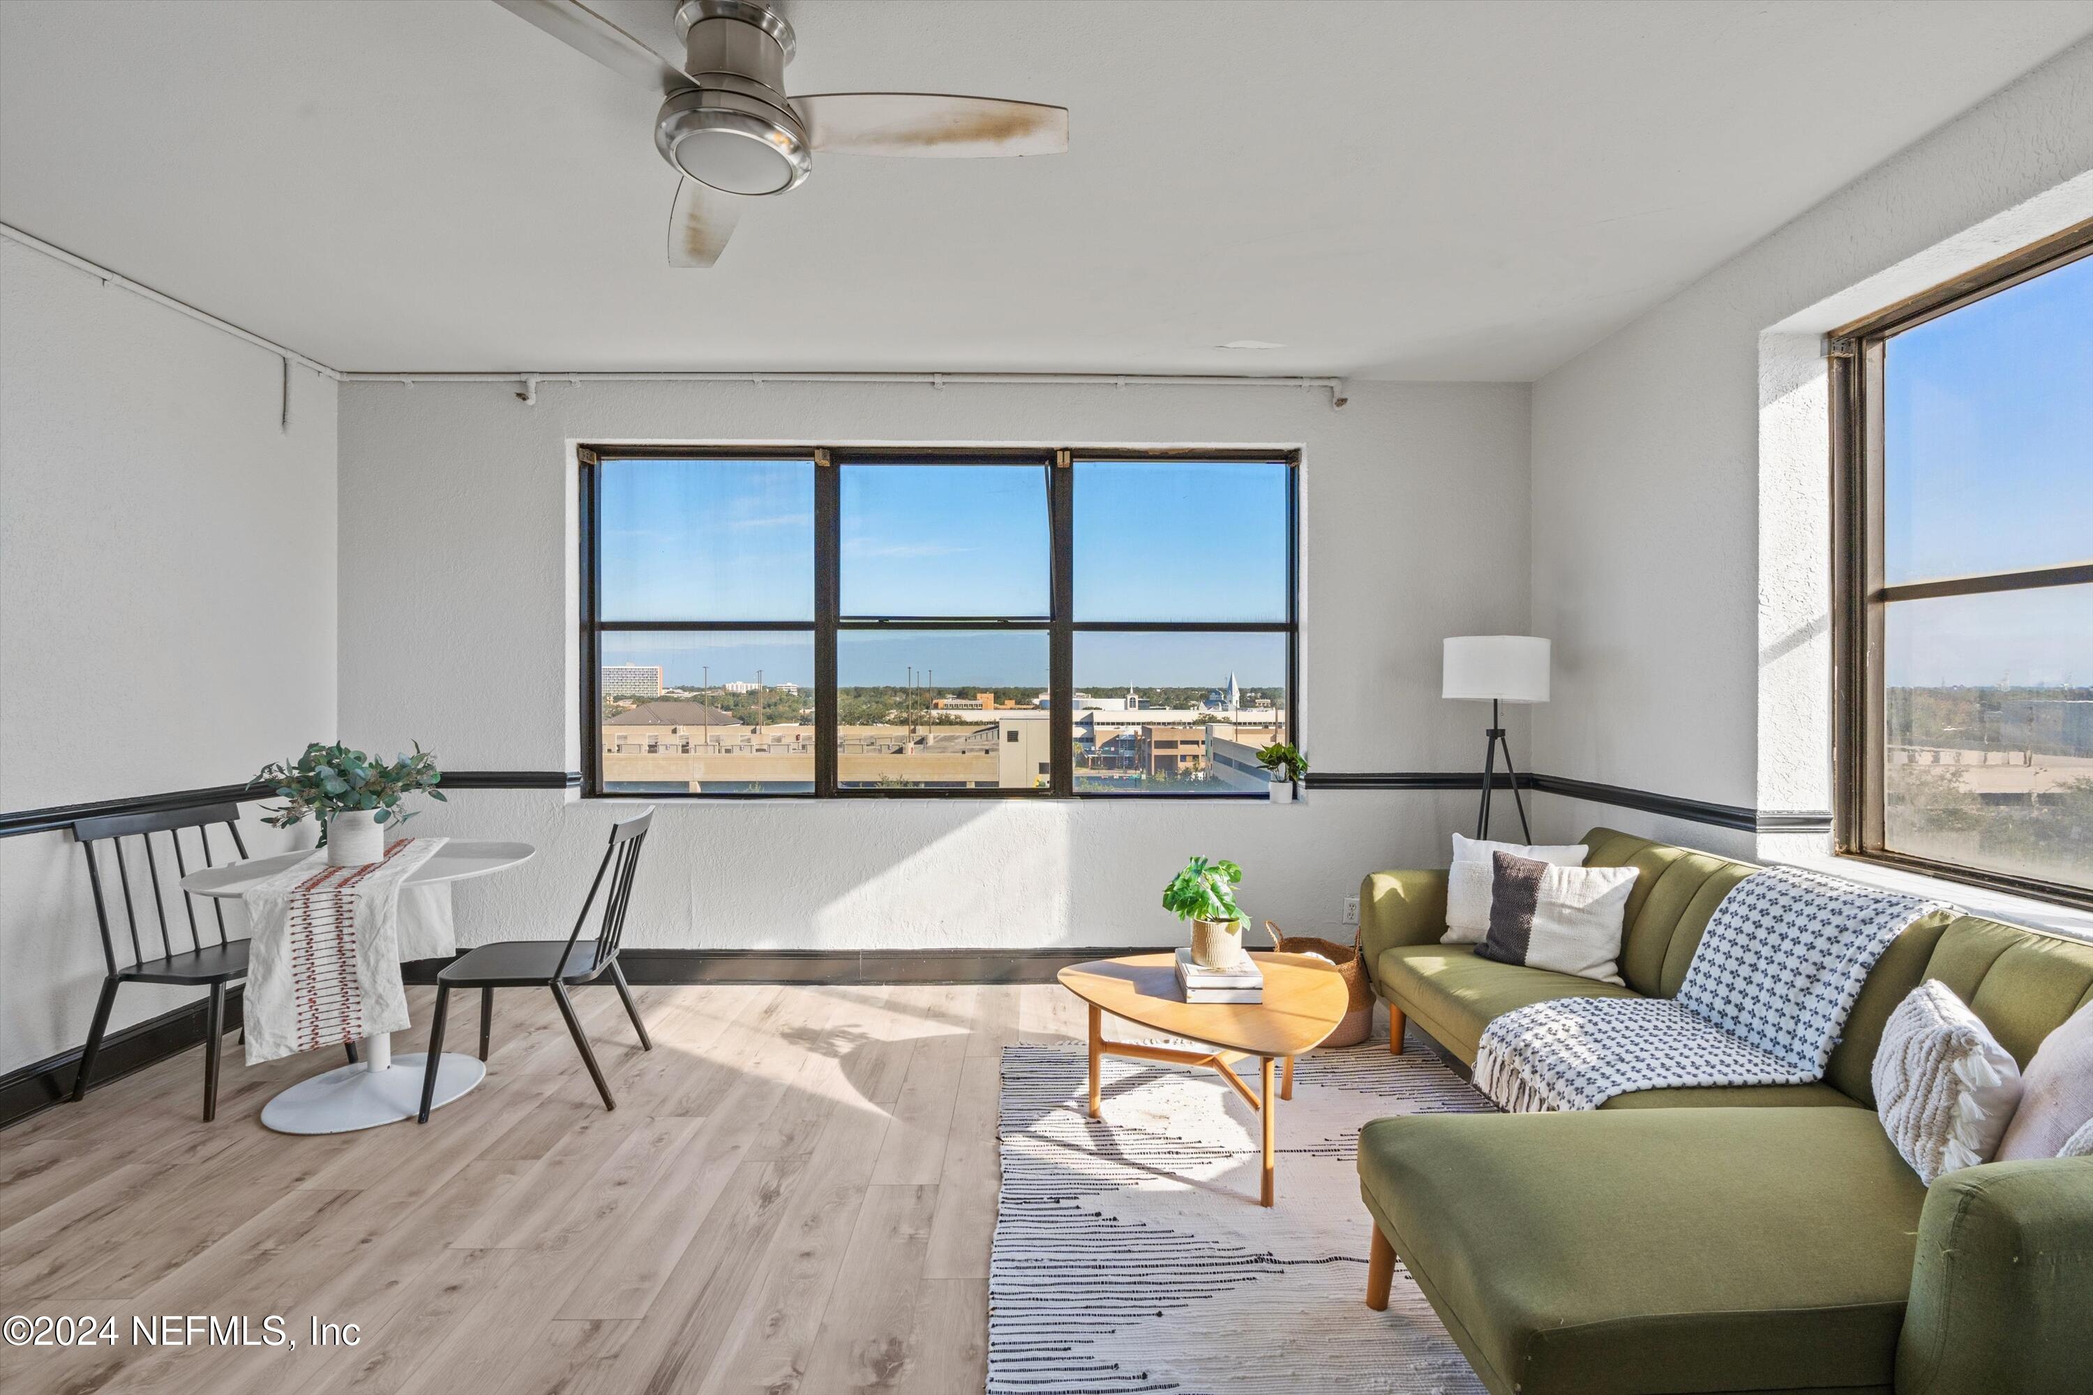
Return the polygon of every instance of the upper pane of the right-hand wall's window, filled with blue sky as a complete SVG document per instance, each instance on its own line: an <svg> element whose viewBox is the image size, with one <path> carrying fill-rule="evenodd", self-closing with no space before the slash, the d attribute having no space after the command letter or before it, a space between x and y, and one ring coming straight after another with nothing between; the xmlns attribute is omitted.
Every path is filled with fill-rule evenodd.
<svg viewBox="0 0 2093 1395"><path fill-rule="evenodd" d="M2093 257L1905 330L1886 356L1892 586L2093 556Z"/></svg>

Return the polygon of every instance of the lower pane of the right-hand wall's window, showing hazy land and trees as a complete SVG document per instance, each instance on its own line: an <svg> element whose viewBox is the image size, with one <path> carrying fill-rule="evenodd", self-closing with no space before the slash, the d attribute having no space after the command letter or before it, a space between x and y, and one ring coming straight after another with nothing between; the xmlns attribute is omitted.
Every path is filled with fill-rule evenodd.
<svg viewBox="0 0 2093 1395"><path fill-rule="evenodd" d="M2093 887L2093 586L1884 611L1884 843Z"/></svg>

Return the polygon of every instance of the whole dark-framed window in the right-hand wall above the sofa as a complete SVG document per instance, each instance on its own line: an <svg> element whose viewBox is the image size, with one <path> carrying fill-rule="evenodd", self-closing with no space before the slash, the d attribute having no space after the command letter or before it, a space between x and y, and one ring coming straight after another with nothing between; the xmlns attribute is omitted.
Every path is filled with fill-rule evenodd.
<svg viewBox="0 0 2093 1395"><path fill-rule="evenodd" d="M2093 230L1833 339L1842 851L2093 904Z"/></svg>

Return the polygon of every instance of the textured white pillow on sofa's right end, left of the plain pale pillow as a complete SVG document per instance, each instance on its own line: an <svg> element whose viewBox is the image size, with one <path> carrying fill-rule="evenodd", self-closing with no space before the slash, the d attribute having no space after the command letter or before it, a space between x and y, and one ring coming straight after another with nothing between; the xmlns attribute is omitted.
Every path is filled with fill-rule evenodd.
<svg viewBox="0 0 2093 1395"><path fill-rule="evenodd" d="M1988 1163L2020 1104L2020 1067L1946 983L1911 989L1875 1048L1875 1113L1928 1186Z"/></svg>

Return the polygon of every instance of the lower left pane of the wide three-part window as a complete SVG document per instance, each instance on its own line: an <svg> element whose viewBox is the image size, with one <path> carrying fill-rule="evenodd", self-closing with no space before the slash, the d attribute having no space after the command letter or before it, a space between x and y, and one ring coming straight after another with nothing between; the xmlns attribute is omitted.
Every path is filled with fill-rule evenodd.
<svg viewBox="0 0 2093 1395"><path fill-rule="evenodd" d="M814 636L603 636L603 788L804 795L814 788Z"/></svg>

